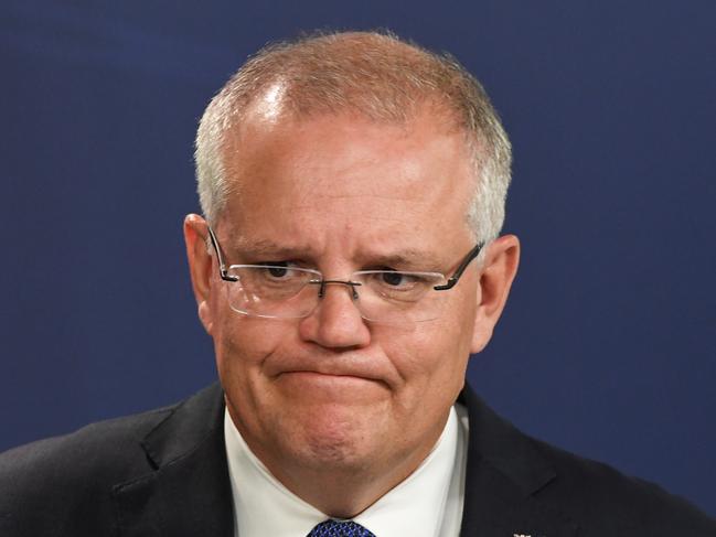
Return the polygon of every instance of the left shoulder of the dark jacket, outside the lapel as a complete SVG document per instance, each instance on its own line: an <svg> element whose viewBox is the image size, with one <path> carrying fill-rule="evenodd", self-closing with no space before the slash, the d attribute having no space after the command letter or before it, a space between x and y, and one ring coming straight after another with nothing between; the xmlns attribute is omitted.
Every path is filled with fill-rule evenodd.
<svg viewBox="0 0 716 537"><path fill-rule="evenodd" d="M141 441L174 408L92 423L0 454L0 534L86 535L77 520L92 527L111 519L113 486L151 471Z"/></svg>

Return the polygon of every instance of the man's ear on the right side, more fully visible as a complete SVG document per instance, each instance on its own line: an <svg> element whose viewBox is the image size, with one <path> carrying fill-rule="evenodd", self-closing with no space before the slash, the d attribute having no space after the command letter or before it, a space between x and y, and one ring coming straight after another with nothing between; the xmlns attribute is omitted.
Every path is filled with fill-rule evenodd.
<svg viewBox="0 0 716 537"><path fill-rule="evenodd" d="M479 304L474 318L474 330L470 353L482 351L498 323L510 294L512 281L520 265L520 240L514 235L504 235L488 246L480 269Z"/></svg>

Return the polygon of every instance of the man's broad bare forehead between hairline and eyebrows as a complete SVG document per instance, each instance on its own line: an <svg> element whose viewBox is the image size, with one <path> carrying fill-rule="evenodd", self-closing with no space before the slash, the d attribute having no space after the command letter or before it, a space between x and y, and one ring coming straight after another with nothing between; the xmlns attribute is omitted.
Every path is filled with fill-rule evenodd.
<svg viewBox="0 0 716 537"><path fill-rule="evenodd" d="M223 225L279 241L469 237L472 160L464 135L442 125L430 115L405 125L249 117L225 144L232 194Z"/></svg>

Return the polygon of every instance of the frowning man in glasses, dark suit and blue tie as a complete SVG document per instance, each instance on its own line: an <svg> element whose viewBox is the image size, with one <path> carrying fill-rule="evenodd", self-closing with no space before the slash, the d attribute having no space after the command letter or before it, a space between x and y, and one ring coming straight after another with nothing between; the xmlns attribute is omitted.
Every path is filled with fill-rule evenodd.
<svg viewBox="0 0 716 537"><path fill-rule="evenodd" d="M221 387L6 453L0 535L716 535L464 387L517 269L510 162L453 60L261 51L202 118L184 223Z"/></svg>

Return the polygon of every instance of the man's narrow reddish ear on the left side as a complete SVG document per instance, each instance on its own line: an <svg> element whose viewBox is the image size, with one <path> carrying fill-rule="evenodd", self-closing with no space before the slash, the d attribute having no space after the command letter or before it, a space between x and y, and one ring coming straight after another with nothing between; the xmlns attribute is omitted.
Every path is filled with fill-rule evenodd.
<svg viewBox="0 0 716 537"><path fill-rule="evenodd" d="M197 214L186 215L184 218L184 243L186 244L189 272L199 309L199 319L201 319L204 330L211 334L213 320L210 297L213 261L206 248L207 236L209 224L206 221Z"/></svg>

